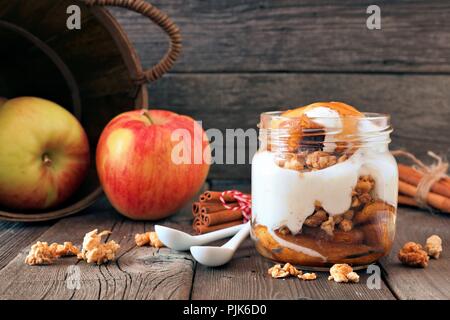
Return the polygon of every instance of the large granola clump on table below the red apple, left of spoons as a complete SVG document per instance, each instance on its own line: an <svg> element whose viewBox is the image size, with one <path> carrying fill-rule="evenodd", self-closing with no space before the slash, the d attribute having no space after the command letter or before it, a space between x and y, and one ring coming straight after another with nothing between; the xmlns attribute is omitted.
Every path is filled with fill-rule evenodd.
<svg viewBox="0 0 450 320"><path fill-rule="evenodd" d="M114 260L120 245L114 240L102 243L102 237L109 234L111 234L111 231L98 233L98 229L86 233L83 239L83 248L78 254L78 259L85 260L87 263L96 264L103 264Z"/></svg>

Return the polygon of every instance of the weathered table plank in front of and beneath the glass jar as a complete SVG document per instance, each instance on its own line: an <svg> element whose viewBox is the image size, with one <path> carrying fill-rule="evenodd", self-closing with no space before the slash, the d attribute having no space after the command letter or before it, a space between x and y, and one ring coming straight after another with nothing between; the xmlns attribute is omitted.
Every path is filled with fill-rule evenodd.
<svg viewBox="0 0 450 320"><path fill-rule="evenodd" d="M239 248L236 256L220 268L197 266L192 299L394 299L382 282L381 289L369 289L368 275L359 271L357 284L338 284L328 281L325 272L317 272L318 279L302 281L297 278L272 279L267 270L273 262L261 257L251 240Z"/></svg>

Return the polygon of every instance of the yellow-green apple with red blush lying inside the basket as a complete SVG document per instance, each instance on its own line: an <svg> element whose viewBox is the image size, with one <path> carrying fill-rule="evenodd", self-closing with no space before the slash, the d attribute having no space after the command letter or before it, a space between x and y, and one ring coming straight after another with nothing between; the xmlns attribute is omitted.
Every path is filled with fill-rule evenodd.
<svg viewBox="0 0 450 320"><path fill-rule="evenodd" d="M61 106L23 97L0 107L0 205L44 209L65 201L89 166L89 143Z"/></svg>

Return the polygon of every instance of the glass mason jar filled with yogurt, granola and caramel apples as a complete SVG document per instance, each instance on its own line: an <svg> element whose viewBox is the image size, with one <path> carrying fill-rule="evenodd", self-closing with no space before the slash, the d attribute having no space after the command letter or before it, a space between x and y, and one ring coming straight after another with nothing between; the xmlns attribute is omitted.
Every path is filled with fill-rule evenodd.
<svg viewBox="0 0 450 320"><path fill-rule="evenodd" d="M388 254L398 172L388 115L261 114L252 161L252 238L263 256L309 267L366 266Z"/></svg>

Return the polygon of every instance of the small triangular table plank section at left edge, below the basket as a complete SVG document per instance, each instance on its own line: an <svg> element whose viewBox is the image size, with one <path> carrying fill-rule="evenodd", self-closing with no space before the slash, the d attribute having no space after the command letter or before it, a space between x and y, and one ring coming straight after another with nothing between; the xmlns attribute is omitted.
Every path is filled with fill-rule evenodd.
<svg viewBox="0 0 450 320"><path fill-rule="evenodd" d="M0 221L0 270L52 224Z"/></svg>

